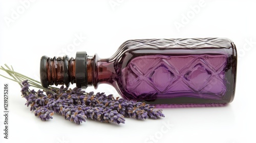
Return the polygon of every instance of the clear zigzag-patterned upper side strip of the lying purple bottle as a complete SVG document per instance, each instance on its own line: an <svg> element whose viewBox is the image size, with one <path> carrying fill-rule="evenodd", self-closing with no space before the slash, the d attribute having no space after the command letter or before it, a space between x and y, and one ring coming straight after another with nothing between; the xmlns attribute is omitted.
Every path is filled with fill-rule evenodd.
<svg viewBox="0 0 256 143"><path fill-rule="evenodd" d="M228 38L135 39L123 42L110 60L120 59L127 53L232 55L234 52L236 46Z"/></svg>

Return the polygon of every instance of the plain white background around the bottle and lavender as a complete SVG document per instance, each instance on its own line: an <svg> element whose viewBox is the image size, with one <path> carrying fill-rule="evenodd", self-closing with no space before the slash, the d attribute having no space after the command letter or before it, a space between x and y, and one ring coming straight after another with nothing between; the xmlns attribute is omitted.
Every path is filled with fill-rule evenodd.
<svg viewBox="0 0 256 143"><path fill-rule="evenodd" d="M129 39L227 37L239 55L236 96L226 107L165 108L160 120L76 125L57 114L42 122L24 106L18 84L0 77L1 142L256 142L254 1L22 2L0 1L0 65L39 80L43 55L74 57L87 51L108 58ZM73 48L76 35L86 39ZM3 137L4 83L10 87L9 139ZM109 85L86 90L118 96Z"/></svg>

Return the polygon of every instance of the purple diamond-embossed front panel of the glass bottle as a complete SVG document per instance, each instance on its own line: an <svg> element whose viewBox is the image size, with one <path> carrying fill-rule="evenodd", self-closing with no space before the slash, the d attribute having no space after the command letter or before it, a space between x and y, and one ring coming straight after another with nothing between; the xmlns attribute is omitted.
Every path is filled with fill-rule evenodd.
<svg viewBox="0 0 256 143"><path fill-rule="evenodd" d="M222 99L226 93L225 55L141 56L122 69L125 90L135 99L192 97Z"/></svg>

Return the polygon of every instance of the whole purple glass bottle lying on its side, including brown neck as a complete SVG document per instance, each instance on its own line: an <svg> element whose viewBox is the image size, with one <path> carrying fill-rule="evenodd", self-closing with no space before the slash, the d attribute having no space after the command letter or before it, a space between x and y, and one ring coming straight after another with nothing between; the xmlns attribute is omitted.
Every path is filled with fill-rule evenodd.
<svg viewBox="0 0 256 143"><path fill-rule="evenodd" d="M78 52L40 64L44 87L108 83L124 99L155 105L230 103L236 71L236 46L226 38L128 40L109 59Z"/></svg>

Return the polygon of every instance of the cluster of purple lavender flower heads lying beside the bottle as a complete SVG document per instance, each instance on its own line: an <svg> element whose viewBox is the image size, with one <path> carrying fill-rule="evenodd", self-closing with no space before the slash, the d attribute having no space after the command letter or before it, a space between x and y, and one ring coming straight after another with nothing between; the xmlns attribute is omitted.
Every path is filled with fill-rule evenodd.
<svg viewBox="0 0 256 143"><path fill-rule="evenodd" d="M86 118L106 123L124 123L124 117L137 120L164 117L162 110L155 110L142 102L114 98L112 94L85 92L81 88L48 88L47 90L30 90L28 80L22 82L22 96L26 104L42 121L52 118L54 113L61 114L66 120L80 124Z"/></svg>

